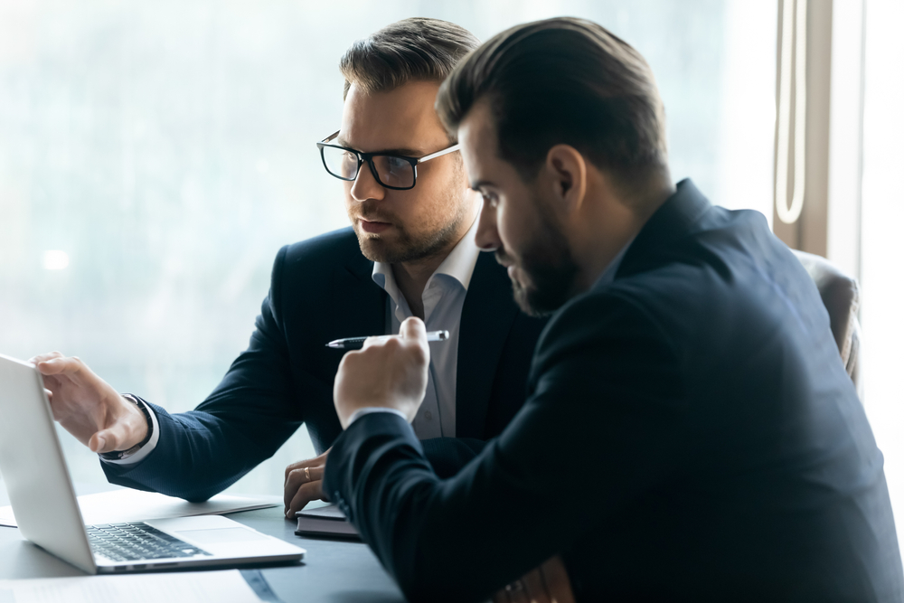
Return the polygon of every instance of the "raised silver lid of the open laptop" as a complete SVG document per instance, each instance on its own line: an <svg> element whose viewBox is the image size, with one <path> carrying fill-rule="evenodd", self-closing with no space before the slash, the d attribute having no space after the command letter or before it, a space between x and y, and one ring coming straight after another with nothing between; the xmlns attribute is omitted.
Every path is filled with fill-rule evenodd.
<svg viewBox="0 0 904 603"><path fill-rule="evenodd" d="M24 538L80 570L97 573L41 373L3 354L0 473Z"/></svg>

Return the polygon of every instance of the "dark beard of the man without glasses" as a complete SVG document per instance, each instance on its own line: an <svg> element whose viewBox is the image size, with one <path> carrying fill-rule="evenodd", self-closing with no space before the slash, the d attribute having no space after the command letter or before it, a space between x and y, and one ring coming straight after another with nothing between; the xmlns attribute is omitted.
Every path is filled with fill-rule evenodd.
<svg viewBox="0 0 904 603"><path fill-rule="evenodd" d="M578 291L578 264L571 255L568 239L558 228L559 221L542 201L534 197L539 215L538 229L530 237L521 260L515 265L528 282L512 278L514 300L530 316L547 316L558 310ZM503 248L496 250L496 261L513 264Z"/></svg>

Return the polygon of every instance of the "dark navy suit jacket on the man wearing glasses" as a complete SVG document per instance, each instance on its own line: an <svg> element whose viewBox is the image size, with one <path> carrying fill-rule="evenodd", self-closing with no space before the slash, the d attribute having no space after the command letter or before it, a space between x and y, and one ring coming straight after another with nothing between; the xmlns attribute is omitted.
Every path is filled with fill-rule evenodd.
<svg viewBox="0 0 904 603"><path fill-rule="evenodd" d="M384 334L386 293L351 228L279 250L248 349L197 409L170 414L154 451L136 465L101 463L114 484L205 500L274 452L303 423L318 453L342 432L333 381L344 352L327 342ZM498 435L525 399L531 354L545 321L524 316L505 269L477 259L462 307L457 438L424 441L440 475L453 475Z"/></svg>

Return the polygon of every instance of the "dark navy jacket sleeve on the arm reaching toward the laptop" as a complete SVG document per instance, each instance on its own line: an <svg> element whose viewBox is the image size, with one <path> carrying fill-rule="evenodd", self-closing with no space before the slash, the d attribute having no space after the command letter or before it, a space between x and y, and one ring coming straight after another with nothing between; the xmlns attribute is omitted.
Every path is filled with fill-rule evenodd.
<svg viewBox="0 0 904 603"><path fill-rule="evenodd" d="M297 383L297 375L290 370L279 314L286 251L283 248L277 255L270 291L248 349L195 410L170 414L153 406L160 428L156 448L135 465L101 462L111 483L190 501L206 500L273 456L302 424L305 415L296 391L332 389L332 384L313 377L308 383Z"/></svg>

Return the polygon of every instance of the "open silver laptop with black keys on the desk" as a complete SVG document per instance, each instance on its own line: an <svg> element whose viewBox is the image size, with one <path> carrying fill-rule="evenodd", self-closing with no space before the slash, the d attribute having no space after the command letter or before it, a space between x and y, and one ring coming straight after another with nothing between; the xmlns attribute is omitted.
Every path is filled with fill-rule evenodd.
<svg viewBox="0 0 904 603"><path fill-rule="evenodd" d="M3 354L0 472L24 538L91 574L297 561L305 554L219 515L86 526L41 373Z"/></svg>

